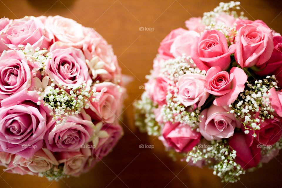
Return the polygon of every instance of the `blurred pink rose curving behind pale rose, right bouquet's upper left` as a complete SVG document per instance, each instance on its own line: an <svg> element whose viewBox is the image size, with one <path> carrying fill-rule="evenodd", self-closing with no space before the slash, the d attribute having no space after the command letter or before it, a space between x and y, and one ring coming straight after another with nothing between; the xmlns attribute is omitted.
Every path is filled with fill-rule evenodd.
<svg viewBox="0 0 282 188"><path fill-rule="evenodd" d="M175 37L182 35L185 32L187 32L187 30L183 28L174 29L164 38L164 40L162 40L160 47L158 49L160 58L162 59L173 58L173 55L170 53L170 46L174 42Z"/></svg>

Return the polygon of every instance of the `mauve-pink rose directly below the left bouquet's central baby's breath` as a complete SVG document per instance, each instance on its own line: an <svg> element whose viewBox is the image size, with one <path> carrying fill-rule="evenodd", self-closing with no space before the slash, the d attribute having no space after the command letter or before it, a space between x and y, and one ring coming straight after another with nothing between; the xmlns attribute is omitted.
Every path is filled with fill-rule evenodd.
<svg viewBox="0 0 282 188"><path fill-rule="evenodd" d="M93 136L94 124L84 110L81 113L83 115L66 117L65 123L53 123L44 137L48 150L52 152L76 151L89 142ZM87 117L87 120L83 116Z"/></svg>

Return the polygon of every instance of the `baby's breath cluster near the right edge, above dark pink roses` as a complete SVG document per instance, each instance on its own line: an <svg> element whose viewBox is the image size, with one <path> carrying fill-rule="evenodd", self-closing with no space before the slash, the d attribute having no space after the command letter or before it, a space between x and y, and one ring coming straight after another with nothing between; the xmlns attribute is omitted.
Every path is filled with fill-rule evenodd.
<svg viewBox="0 0 282 188"><path fill-rule="evenodd" d="M256 80L254 85L247 81L247 86L250 90L244 90L240 94L240 98L229 105L231 108L229 113L242 119L245 133L249 134L249 130L259 130L259 123L263 122L265 118L274 118L272 115L274 109L271 108L268 91L273 87L278 88L278 86L274 75L267 76L263 80ZM256 134L253 136L256 137Z"/></svg>

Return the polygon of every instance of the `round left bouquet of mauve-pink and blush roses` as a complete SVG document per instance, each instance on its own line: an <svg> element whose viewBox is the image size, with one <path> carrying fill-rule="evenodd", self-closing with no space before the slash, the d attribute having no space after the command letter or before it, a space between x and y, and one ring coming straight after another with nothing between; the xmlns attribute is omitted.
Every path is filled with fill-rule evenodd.
<svg viewBox="0 0 282 188"><path fill-rule="evenodd" d="M0 165L78 176L122 136L125 88L111 46L61 16L0 19Z"/></svg>

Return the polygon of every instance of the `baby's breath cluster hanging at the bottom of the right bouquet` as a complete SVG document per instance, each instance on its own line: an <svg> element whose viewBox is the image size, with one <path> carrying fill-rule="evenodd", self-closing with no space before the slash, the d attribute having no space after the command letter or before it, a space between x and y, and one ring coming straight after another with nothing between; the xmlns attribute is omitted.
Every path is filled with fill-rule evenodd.
<svg viewBox="0 0 282 188"><path fill-rule="evenodd" d="M236 182L245 170L234 162L236 151L231 150L226 140L212 140L207 147L193 147L187 153L187 162L202 162L214 170L213 174L219 176L222 182Z"/></svg>

